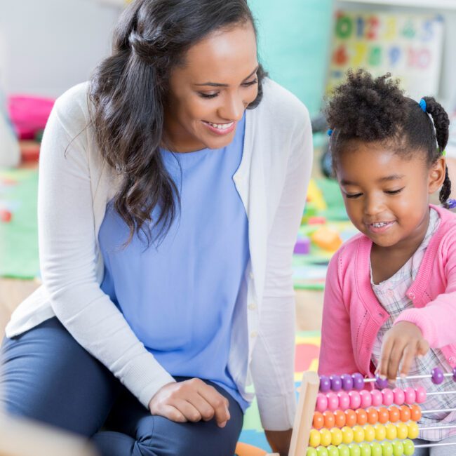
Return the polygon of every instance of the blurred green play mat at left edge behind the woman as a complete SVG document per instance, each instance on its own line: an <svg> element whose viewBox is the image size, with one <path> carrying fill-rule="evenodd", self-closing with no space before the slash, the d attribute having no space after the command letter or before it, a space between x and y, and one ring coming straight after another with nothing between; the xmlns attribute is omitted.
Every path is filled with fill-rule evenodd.
<svg viewBox="0 0 456 456"><path fill-rule="evenodd" d="M36 194L38 171L0 170L0 276L33 279L39 275Z"/></svg>

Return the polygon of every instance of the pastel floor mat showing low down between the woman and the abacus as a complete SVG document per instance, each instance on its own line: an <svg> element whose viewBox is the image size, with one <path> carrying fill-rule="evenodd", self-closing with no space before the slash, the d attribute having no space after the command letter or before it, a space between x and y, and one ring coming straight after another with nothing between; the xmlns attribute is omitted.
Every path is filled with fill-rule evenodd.
<svg viewBox="0 0 456 456"><path fill-rule="evenodd" d="M319 352L319 331L301 331L297 333L295 353L295 386L297 391L301 384L301 377L304 370L317 370ZM298 394L297 391L296 397ZM239 441L255 445L266 451L271 451L261 426L256 399L247 409Z"/></svg>

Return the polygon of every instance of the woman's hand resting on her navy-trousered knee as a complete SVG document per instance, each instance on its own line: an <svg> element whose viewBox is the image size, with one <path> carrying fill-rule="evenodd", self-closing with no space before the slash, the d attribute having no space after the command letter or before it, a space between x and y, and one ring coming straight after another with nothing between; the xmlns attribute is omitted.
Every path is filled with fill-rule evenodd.
<svg viewBox="0 0 456 456"><path fill-rule="evenodd" d="M228 399L199 378L168 383L149 402L152 415L161 415L175 422L215 418L219 427L224 427L230 418L228 407Z"/></svg>

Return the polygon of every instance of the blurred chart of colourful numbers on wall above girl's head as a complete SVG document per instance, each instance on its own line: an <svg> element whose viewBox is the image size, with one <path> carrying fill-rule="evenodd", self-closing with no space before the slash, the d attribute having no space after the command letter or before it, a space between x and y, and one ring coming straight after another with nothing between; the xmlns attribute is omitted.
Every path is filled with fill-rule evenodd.
<svg viewBox="0 0 456 456"><path fill-rule="evenodd" d="M375 76L391 72L412 98L436 95L442 47L440 15L337 11L327 90L347 69L363 67Z"/></svg>

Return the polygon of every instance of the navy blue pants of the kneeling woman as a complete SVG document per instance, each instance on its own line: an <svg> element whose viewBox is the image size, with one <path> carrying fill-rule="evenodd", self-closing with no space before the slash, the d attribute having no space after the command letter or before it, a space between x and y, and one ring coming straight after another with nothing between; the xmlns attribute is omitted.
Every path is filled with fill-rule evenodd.
<svg viewBox="0 0 456 456"><path fill-rule="evenodd" d="M1 347L0 406L90 438L102 456L232 456L243 413L227 391L231 419L176 423L152 416L83 349L57 318ZM177 377L177 381L187 380Z"/></svg>

